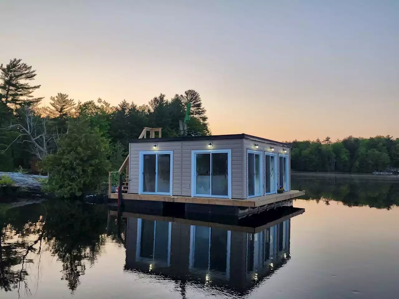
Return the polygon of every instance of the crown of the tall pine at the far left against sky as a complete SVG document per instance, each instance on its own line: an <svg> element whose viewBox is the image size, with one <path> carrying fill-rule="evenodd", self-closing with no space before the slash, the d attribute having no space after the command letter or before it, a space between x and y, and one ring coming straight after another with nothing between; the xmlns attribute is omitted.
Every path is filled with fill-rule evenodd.
<svg viewBox="0 0 399 299"><path fill-rule="evenodd" d="M0 65L0 99L14 109L24 105L35 106L43 99L32 96L40 85L31 86L26 81L34 80L36 71L21 61L14 58L5 67Z"/></svg>

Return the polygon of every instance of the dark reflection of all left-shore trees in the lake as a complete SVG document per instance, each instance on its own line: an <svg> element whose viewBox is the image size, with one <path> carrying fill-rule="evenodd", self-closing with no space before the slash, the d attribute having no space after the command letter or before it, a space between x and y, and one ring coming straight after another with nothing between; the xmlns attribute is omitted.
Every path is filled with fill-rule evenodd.
<svg viewBox="0 0 399 299"><path fill-rule="evenodd" d="M105 244L107 209L79 201L51 201L12 208L0 206L0 289L21 288L27 295L27 264L34 259L40 275L40 256L49 250L62 262L62 277L73 293Z"/></svg>

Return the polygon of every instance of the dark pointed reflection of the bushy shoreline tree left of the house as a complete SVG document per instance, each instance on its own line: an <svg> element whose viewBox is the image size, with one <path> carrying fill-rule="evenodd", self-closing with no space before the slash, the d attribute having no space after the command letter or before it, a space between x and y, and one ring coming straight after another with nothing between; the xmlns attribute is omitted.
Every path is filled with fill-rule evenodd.
<svg viewBox="0 0 399 299"><path fill-rule="evenodd" d="M93 266L105 244L107 212L103 206L62 201L49 204L43 226L51 254L62 262L62 278L75 291L85 274L85 261Z"/></svg>

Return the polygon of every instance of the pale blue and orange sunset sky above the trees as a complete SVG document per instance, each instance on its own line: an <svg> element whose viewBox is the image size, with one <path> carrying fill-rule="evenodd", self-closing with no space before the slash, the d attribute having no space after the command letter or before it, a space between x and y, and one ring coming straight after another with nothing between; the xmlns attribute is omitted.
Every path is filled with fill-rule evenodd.
<svg viewBox="0 0 399 299"><path fill-rule="evenodd" d="M213 134L399 137L396 0L0 0L0 12L0 63L32 65L44 104L195 89Z"/></svg>

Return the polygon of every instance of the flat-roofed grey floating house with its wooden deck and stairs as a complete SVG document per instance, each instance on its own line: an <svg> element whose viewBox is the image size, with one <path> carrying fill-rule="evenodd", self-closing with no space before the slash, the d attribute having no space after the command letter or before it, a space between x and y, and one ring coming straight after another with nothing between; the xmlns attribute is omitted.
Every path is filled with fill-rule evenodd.
<svg viewBox="0 0 399 299"><path fill-rule="evenodd" d="M124 169L123 193L110 185L111 199L192 213L242 216L304 195L290 187L290 144L247 134L132 140Z"/></svg>

